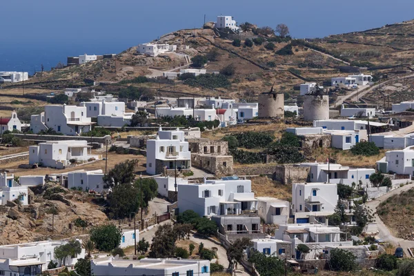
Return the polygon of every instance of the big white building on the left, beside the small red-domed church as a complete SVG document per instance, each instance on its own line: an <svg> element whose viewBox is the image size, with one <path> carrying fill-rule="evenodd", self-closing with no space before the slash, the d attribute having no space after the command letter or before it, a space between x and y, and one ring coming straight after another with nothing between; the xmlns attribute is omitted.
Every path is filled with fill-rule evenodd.
<svg viewBox="0 0 414 276"><path fill-rule="evenodd" d="M89 132L91 125L86 106L45 106L45 112L30 118L30 130L34 133L52 128L63 135L80 136L82 132Z"/></svg>

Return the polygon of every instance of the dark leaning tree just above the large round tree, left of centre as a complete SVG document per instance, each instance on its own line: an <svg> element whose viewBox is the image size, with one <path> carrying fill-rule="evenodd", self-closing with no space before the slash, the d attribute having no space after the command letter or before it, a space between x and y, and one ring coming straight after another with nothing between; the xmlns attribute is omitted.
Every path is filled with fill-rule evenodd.
<svg viewBox="0 0 414 276"><path fill-rule="evenodd" d="M112 168L102 178L105 188L113 188L119 184L132 184L135 179L135 167L137 165L137 159L126 160L116 164L115 168Z"/></svg>

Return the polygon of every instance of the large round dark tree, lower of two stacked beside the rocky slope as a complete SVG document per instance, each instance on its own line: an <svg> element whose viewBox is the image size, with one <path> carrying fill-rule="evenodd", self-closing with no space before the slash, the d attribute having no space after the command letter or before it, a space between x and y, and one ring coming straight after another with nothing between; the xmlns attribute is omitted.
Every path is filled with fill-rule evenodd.
<svg viewBox="0 0 414 276"><path fill-rule="evenodd" d="M112 188L108 195L109 209L116 218L128 217L130 213L136 213L139 204L139 190L130 184L122 184Z"/></svg>

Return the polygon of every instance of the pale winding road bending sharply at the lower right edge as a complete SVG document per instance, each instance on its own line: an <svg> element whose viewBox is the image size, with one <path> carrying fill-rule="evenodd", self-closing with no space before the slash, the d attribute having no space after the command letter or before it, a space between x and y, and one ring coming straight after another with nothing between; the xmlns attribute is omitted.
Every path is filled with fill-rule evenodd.
<svg viewBox="0 0 414 276"><path fill-rule="evenodd" d="M386 195L378 197L377 199L374 199L373 201L369 201L368 203L365 204L365 206L373 210L373 212L376 212L377 206L380 205L382 201L388 199L388 197L391 197L393 195L398 195L404 192L405 190L409 190L411 188L414 188L414 184L408 184L402 188L397 188L395 190L392 190L390 193L387 193ZM393 233L391 233L391 231L388 229L388 227L386 227L384 222L382 222L382 220L377 215L377 213L375 213L375 221L377 222L378 231L380 232L378 234L380 239L384 240L385 242L390 242L394 244L395 246L400 245L404 249L404 253L409 257L410 255L408 253L407 248L414 247L414 241L408 241L406 239L395 237Z"/></svg>

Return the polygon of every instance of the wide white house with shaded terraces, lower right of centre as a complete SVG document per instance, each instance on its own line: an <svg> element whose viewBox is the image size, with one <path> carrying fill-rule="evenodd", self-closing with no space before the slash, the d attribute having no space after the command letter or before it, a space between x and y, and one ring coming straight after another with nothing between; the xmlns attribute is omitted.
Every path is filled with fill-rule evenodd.
<svg viewBox="0 0 414 276"><path fill-rule="evenodd" d="M342 241L339 227L320 224L286 224L275 231L275 239L291 243L292 255L296 259L324 259L325 248L352 246L352 241ZM299 244L305 244L311 251L303 254L297 250ZM322 258L321 258L322 255Z"/></svg>

